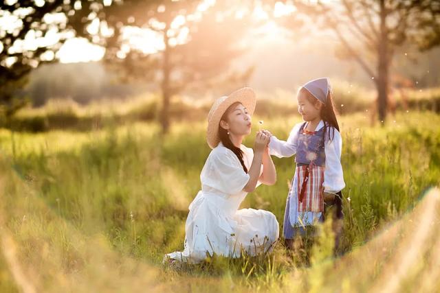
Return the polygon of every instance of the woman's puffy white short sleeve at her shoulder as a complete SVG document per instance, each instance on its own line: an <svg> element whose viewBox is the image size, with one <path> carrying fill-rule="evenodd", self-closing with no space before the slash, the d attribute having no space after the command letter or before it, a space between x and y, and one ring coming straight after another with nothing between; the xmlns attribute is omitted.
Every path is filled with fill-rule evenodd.
<svg viewBox="0 0 440 293"><path fill-rule="evenodd" d="M232 151L218 150L208 157L201 183L224 194L238 194L248 184L249 178Z"/></svg>

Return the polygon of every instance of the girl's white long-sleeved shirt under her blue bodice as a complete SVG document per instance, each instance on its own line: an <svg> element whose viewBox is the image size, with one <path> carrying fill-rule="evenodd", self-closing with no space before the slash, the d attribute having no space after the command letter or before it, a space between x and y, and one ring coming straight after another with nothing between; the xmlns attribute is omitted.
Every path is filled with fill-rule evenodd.
<svg viewBox="0 0 440 293"><path fill-rule="evenodd" d="M275 136L272 136L269 143L270 154L278 156L278 158L293 156L296 154L296 148L298 148L298 131L303 123L304 122L298 123L294 126L294 128L292 128L287 141L281 141ZM324 127L324 122L321 120L318 126L316 126L315 131L320 130L322 127ZM323 185L325 192L338 192L345 187L344 172L342 172L342 165L340 161L342 138L338 130L335 128L333 128L333 130L333 140L329 139L329 132L327 132L324 145L325 171Z"/></svg>

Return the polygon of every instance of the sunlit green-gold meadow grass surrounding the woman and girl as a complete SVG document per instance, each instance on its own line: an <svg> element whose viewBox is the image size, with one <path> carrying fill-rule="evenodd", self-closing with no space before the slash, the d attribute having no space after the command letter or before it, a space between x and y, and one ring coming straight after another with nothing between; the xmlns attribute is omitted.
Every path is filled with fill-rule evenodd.
<svg viewBox="0 0 440 293"><path fill-rule="evenodd" d="M268 118L264 126L286 138L298 121ZM214 256L177 269L161 261L183 248L188 204L210 152L203 121L175 124L166 137L153 122L90 132L1 130L0 291L353 292L382 284L412 292L420 280L430 280L425 292L439 290L440 209L432 210L439 194L421 196L439 185L440 116L399 113L374 128L358 113L340 124L347 183L342 259L331 256L327 223L294 253L278 243L270 255ZM245 145L252 143L250 135ZM274 163L276 185L259 187L241 207L270 210L282 224L293 158ZM405 286L392 283L391 272Z"/></svg>

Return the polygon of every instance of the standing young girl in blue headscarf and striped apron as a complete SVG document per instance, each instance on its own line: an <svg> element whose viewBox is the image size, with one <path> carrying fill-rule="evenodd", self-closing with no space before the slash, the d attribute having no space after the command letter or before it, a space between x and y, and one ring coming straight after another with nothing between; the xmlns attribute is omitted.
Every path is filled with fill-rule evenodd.
<svg viewBox="0 0 440 293"><path fill-rule="evenodd" d="M329 80L318 78L307 82L298 91L297 99L304 122L294 126L287 141L272 136L269 144L270 154L278 158L296 154L296 170L284 216L285 244L292 249L294 236L303 235L305 226L322 222L325 209L334 205L337 249L343 216L340 191L345 183L340 162L342 139Z"/></svg>

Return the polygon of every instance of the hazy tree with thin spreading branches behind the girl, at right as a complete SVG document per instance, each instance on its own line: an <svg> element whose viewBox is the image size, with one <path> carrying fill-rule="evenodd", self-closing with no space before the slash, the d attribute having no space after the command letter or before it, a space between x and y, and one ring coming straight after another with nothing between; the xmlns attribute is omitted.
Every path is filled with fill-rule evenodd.
<svg viewBox="0 0 440 293"><path fill-rule="evenodd" d="M296 1L296 7L321 28L332 30L343 49L338 55L354 59L371 77L380 121L386 119L390 67L399 47L412 44L423 50L440 43L438 0Z"/></svg>

